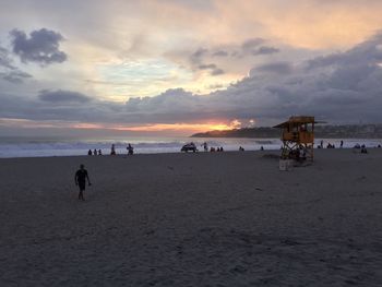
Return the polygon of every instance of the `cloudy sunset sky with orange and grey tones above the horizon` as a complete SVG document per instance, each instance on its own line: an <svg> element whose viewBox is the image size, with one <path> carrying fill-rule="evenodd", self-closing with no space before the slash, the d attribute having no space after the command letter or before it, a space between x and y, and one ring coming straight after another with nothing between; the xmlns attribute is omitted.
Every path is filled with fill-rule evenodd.
<svg viewBox="0 0 382 287"><path fill-rule="evenodd" d="M382 123L379 0L0 7L0 136Z"/></svg>

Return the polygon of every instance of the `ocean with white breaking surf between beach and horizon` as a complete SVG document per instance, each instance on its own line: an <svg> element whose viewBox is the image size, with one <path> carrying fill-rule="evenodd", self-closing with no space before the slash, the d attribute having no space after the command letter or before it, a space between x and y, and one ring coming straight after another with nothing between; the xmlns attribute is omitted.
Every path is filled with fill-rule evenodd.
<svg viewBox="0 0 382 287"><path fill-rule="evenodd" d="M315 140L319 144L321 139ZM105 139L73 139L73 137L1 137L0 157L41 157L41 156L74 156L87 155L88 150L102 150L104 155L110 154L111 144L115 144L117 154L127 154L127 145L134 147L135 154L179 153L183 144L193 142L199 151L206 142L208 147L220 147L225 151L238 151L242 146L246 151L279 150L282 142L278 139L203 139L203 137L105 137ZM324 139L327 143L339 147L341 139ZM380 139L345 139L344 147L354 147L355 144L365 144L367 147L377 147L382 144Z"/></svg>

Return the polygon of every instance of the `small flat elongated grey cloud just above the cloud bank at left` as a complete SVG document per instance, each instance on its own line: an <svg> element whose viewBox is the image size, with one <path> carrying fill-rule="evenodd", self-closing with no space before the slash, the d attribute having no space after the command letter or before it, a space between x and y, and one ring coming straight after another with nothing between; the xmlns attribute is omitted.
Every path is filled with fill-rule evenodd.
<svg viewBox="0 0 382 287"><path fill-rule="evenodd" d="M92 100L88 96L71 91L40 91L38 98L52 104L83 104Z"/></svg>

